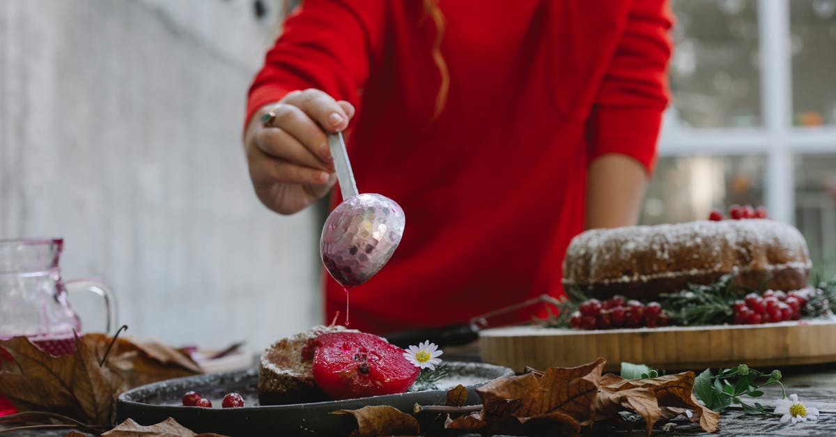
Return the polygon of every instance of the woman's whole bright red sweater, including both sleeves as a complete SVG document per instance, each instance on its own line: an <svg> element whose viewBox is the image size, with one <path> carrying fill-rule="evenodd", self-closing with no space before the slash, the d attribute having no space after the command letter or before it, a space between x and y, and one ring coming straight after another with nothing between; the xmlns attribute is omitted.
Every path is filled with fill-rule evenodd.
<svg viewBox="0 0 836 437"><path fill-rule="evenodd" d="M406 216L389 264L351 291L351 327L368 332L561 294L590 160L620 153L648 172L655 161L668 100L664 0L439 5L450 91L436 120L436 25L417 0L306 0L249 91L247 119L306 88L358 108L348 141L357 187ZM345 296L325 276L330 321Z"/></svg>

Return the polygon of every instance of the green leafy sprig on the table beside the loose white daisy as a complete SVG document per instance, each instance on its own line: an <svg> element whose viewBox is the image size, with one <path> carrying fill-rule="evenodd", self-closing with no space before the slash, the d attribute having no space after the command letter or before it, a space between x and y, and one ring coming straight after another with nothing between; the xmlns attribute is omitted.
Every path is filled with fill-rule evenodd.
<svg viewBox="0 0 836 437"><path fill-rule="evenodd" d="M758 383L759 379L767 378L765 383ZM744 413L747 414L771 414L762 404L754 402L748 404L741 397L749 396L759 398L763 396L761 388L767 385L778 384L781 386L782 397L787 397L781 383L781 372L773 370L772 373L762 373L746 364L736 368L720 370L716 375L711 373L710 368L700 373L694 380L694 394L706 407L720 412L732 404L740 404Z"/></svg>

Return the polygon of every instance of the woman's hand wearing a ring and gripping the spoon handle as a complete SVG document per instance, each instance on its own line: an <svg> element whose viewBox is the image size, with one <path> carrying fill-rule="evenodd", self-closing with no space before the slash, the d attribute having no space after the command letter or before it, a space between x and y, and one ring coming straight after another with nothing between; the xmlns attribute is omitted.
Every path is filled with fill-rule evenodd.
<svg viewBox="0 0 836 437"><path fill-rule="evenodd" d="M268 111L275 116L262 123ZM325 132L343 131L354 116L349 102L320 90L293 91L252 116L244 150L252 188L264 206L296 213L323 198L337 180Z"/></svg>

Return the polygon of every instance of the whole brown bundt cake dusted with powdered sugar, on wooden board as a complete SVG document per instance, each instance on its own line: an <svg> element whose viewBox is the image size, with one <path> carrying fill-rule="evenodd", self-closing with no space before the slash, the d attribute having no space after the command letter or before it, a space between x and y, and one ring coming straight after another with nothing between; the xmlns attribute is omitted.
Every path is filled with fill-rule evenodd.
<svg viewBox="0 0 836 437"><path fill-rule="evenodd" d="M772 219L592 229L570 242L564 287L589 297L652 299L735 273L736 285L798 290L811 262L798 229Z"/></svg>

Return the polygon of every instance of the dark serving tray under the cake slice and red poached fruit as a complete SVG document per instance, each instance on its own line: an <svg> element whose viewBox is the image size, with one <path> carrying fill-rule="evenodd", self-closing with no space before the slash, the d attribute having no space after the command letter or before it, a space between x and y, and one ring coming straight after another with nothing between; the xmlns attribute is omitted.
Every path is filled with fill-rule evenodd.
<svg viewBox="0 0 836 437"><path fill-rule="evenodd" d="M412 413L415 403L444 404L447 390L462 383L467 388L467 404L481 404L474 391L492 379L511 376L510 368L482 362L446 362L450 377L442 380L440 390L374 396L371 398L311 404L258 405L256 368L236 372L212 373L176 378L137 387L120 394L116 414L121 423L134 419L143 425L166 418L196 433L227 435L347 435L356 428L347 415L330 414L338 409L359 409L366 405L391 405ZM212 409L182 406L183 393L194 390L212 401ZM237 392L245 406L222 409L224 394Z"/></svg>

